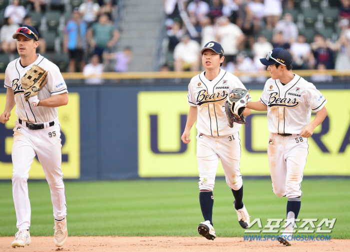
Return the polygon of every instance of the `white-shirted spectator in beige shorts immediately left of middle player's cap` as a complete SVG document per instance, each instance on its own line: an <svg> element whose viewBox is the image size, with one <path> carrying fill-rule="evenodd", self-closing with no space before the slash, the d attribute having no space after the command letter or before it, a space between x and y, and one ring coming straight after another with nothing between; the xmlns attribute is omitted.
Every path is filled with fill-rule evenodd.
<svg viewBox="0 0 350 252"><path fill-rule="evenodd" d="M183 35L174 49L174 70L181 72L183 70L199 70L199 43L191 40L188 35Z"/></svg>

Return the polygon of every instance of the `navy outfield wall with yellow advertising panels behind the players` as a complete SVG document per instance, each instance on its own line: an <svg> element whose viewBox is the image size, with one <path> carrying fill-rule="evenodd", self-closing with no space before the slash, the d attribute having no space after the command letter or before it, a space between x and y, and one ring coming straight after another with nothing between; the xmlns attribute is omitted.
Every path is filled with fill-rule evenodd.
<svg viewBox="0 0 350 252"><path fill-rule="evenodd" d="M196 177L195 129L192 141L180 141L186 114L187 82L184 84L132 84L74 86L69 84L69 103L58 109L62 132L64 178L81 180L132 179L138 177ZM257 100L263 84L246 84ZM328 116L309 138L304 175L350 175L350 89L347 84L317 85L328 100ZM0 90L0 111L5 106ZM0 124L0 179L12 173L11 146L15 113ZM247 117L242 126L241 173L269 175L265 113ZM223 176L219 167L218 176ZM44 178L33 161L30 179Z"/></svg>

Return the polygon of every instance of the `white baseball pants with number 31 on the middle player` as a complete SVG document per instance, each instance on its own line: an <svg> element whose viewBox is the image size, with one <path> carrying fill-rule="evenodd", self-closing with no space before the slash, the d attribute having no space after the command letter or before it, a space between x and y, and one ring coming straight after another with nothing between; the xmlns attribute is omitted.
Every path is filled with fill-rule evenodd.
<svg viewBox="0 0 350 252"><path fill-rule="evenodd" d="M199 190L212 191L219 159L225 173L226 183L233 190L242 186L239 170L240 139L236 132L229 136L206 136L197 134L197 161Z"/></svg>

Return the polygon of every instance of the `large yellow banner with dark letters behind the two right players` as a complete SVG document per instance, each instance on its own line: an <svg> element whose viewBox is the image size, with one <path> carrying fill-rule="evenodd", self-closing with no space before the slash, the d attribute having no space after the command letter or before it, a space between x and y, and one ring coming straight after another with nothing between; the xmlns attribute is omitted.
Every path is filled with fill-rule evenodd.
<svg viewBox="0 0 350 252"><path fill-rule="evenodd" d="M350 175L350 90L320 90L328 115L308 138L304 175ZM257 101L262 90L250 91ZM340 102L343 106L339 106ZM180 140L189 105L186 91L143 91L137 96L138 175L140 177L198 176L196 129L189 144ZM312 114L313 120L315 114ZM239 132L240 170L244 176L269 175L266 112L253 111ZM217 176L224 176L221 164Z"/></svg>

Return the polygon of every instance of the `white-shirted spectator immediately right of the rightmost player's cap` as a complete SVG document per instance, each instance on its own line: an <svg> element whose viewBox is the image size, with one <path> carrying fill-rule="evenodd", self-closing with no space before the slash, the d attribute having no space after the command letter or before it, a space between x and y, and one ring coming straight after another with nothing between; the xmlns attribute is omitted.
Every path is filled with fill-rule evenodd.
<svg viewBox="0 0 350 252"><path fill-rule="evenodd" d="M299 34L297 41L290 45L290 54L293 58L293 69L312 68L311 46L306 43L306 37L303 34Z"/></svg>

